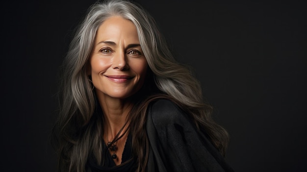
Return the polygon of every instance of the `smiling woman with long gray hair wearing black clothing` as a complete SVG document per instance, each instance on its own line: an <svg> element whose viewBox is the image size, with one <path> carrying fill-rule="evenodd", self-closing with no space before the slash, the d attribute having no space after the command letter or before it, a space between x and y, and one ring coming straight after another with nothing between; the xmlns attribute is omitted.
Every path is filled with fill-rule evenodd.
<svg viewBox="0 0 307 172"><path fill-rule="evenodd" d="M232 171L227 132L140 6L93 4L62 69L59 171Z"/></svg>

